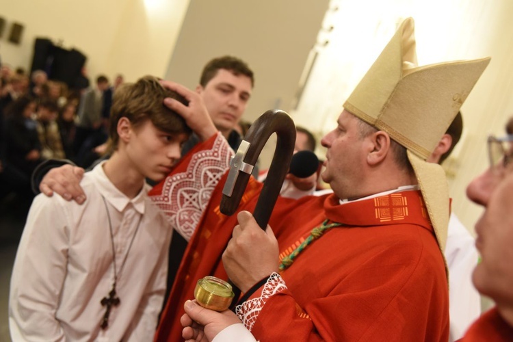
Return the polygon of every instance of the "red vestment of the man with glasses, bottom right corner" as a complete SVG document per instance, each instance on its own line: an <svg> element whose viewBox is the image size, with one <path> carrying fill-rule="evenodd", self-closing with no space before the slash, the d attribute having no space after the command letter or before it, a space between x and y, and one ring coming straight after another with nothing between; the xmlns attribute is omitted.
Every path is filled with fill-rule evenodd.
<svg viewBox="0 0 513 342"><path fill-rule="evenodd" d="M513 341L513 326L499 315L497 308L486 311L471 325L461 342Z"/></svg>

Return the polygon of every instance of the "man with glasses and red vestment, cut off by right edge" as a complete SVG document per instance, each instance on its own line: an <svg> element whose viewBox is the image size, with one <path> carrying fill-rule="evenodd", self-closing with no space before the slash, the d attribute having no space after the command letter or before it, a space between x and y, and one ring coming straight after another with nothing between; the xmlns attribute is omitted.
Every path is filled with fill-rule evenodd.
<svg viewBox="0 0 513 342"><path fill-rule="evenodd" d="M488 137L490 168L477 176L466 194L485 210L477 224L475 246L482 261L475 267L477 290L495 301L463 341L512 341L513 338L513 120L505 137Z"/></svg>

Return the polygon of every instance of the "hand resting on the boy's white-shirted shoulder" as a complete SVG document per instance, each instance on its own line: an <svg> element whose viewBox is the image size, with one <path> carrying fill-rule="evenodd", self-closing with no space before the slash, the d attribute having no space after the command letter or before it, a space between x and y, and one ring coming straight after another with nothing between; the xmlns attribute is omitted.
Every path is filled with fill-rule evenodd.
<svg viewBox="0 0 513 342"><path fill-rule="evenodd" d="M50 197L56 192L65 200L75 200L81 205L86 200L86 194L80 187L83 172L83 168L71 165L53 168L44 175L39 189L46 196Z"/></svg>

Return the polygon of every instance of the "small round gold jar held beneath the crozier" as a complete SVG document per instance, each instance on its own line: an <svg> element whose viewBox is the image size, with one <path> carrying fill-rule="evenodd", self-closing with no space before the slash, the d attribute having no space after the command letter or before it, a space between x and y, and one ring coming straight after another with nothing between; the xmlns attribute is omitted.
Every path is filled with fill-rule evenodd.
<svg viewBox="0 0 513 342"><path fill-rule="evenodd" d="M225 311L233 299L232 287L228 282L214 276L206 276L198 280L194 289L196 302L204 308Z"/></svg>

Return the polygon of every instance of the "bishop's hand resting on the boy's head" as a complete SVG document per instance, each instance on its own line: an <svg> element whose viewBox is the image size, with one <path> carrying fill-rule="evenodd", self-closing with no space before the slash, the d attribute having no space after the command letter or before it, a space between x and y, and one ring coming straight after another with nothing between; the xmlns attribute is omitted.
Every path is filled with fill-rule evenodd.
<svg viewBox="0 0 513 342"><path fill-rule="evenodd" d="M186 106L174 100L174 98L165 98L164 105L180 114L192 131L200 137L200 140L207 140L217 133L218 129L215 128L200 94L172 81L161 80L160 83L163 87L181 94L181 96L189 101L189 105Z"/></svg>

